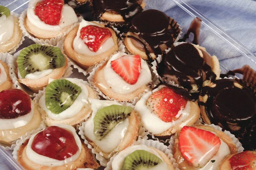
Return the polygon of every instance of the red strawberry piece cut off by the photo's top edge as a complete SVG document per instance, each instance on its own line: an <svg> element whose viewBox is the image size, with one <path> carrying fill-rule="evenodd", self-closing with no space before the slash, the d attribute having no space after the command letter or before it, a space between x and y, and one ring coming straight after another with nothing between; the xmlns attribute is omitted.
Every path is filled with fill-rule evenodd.
<svg viewBox="0 0 256 170"><path fill-rule="evenodd" d="M35 6L35 14L44 23L57 26L61 21L64 0L42 0Z"/></svg>

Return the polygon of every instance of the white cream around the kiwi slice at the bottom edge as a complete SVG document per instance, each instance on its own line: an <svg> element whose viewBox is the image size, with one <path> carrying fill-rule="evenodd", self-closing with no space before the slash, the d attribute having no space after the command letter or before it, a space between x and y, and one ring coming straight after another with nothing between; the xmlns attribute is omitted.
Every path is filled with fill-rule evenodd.
<svg viewBox="0 0 256 170"><path fill-rule="evenodd" d="M148 151L156 155L158 158L160 158L163 161L161 156L155 150L147 147L145 144L133 145L133 146L127 147L125 150L122 150L120 153L116 155L116 157L112 161L112 170L121 170L125 158L136 150ZM148 170L167 170L167 164L163 161L162 163Z"/></svg>

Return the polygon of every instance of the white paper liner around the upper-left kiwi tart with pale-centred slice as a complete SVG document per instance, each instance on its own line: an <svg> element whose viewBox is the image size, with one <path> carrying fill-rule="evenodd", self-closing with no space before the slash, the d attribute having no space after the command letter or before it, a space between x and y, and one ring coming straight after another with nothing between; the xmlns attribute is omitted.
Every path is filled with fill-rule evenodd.
<svg viewBox="0 0 256 170"><path fill-rule="evenodd" d="M42 45L46 45L46 44L42 44ZM24 48L23 48L23 49L24 49ZM22 51L22 49L21 49L20 51ZM29 94L30 97L35 97L35 95L36 95L35 92L33 92L32 90L30 90L29 88L27 88L26 85L22 85L22 84L21 84L20 82L18 82L18 80L17 80L17 79L19 79L19 78L18 78L18 76L17 76L17 74L16 74L16 70L17 70L17 63L16 63L16 60L17 60L18 56L20 55L20 51L18 51L17 53L15 53L14 56L9 59L9 67L11 68L10 73L15 77L15 78L14 78L14 79L15 79L14 84L15 84L16 88L25 91L27 94ZM68 61L69 61L69 59L68 59ZM68 66L67 66L66 71L65 71L65 73L64 73L64 75L63 75L62 77L63 77L63 78L67 78L67 77L69 77L72 73L73 73L73 72L72 72L72 68L71 68L71 63L68 62ZM36 79L35 79L35 81L36 81Z"/></svg>

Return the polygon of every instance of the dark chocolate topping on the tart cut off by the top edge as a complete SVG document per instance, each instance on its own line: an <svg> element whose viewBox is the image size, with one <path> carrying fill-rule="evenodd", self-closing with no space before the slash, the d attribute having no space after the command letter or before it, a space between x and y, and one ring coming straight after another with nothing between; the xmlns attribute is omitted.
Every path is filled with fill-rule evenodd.
<svg viewBox="0 0 256 170"><path fill-rule="evenodd" d="M105 11L117 12L129 22L143 8L137 0L93 0L93 10L97 17L101 17Z"/></svg>

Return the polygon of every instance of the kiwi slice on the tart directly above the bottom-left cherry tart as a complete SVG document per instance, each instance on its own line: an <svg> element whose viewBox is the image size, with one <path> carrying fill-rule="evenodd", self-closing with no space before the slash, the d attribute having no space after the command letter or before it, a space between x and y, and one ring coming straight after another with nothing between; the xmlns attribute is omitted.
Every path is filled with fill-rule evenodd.
<svg viewBox="0 0 256 170"><path fill-rule="evenodd" d="M45 89L46 108L54 114L69 108L81 93L82 89L67 79L56 79Z"/></svg>

